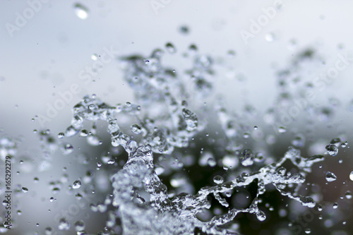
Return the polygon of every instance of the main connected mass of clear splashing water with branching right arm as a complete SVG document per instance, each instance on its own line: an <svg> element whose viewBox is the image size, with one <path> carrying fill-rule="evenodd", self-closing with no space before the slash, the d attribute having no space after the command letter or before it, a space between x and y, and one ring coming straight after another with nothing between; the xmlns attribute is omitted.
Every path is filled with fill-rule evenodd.
<svg viewBox="0 0 353 235"><path fill-rule="evenodd" d="M174 53L172 44L167 44L166 47L169 53ZM86 95L73 107L73 120L65 133L66 136L82 133L85 121L95 123L103 120L108 124L107 131L111 135L112 146L121 145L128 153L128 160L123 169L112 176L114 188L112 205L116 207L116 215L121 219L124 234L140 234L141 231L144 234L193 234L196 228L209 234L225 234L227 229L221 227L232 222L239 213L254 214L258 220L264 221L266 215L258 208L258 203L262 201L261 195L265 193L268 185L274 186L281 195L297 200L301 205L314 207L316 203L313 198L300 195L299 188L304 183L306 175L311 172L312 165L323 161L324 157L323 155L302 157L300 151L294 147L289 147L285 156L277 162L260 167L251 173L239 174L229 181L224 181L222 176L215 176L213 181L216 186L203 187L194 194L180 193L169 197L167 186L156 173L160 168L155 166L154 158L161 154L171 155L178 152L177 148L189 146L193 136L205 128L204 117L208 111L200 108L202 105L197 99L193 100L193 107L198 110L199 115L186 108L188 104L184 98L190 95L186 91L187 85L178 80L171 70L162 66L160 63L162 53L162 50L157 49L148 59L141 56L122 59L126 63L125 79L136 91L136 102L141 106L130 102L110 106L97 97ZM204 97L209 94L212 89L212 83L208 80L211 66L210 58L196 56L194 66L188 72L194 84L193 95ZM176 88L177 92L170 89L171 87ZM165 108L156 109L157 107ZM148 108L157 110L157 113L150 113ZM216 110L227 138L225 149L232 161L232 158L237 156L231 152L241 148L241 145L237 144L241 126L234 121L222 104L217 104ZM140 140L133 140L132 135L121 131L116 119L119 115L131 116L133 120L131 133L139 135ZM279 132L285 133L286 128L281 126ZM91 131L90 135L95 136L95 131ZM295 145L299 147L304 145L303 139L297 137ZM330 145L326 149L331 151L333 146ZM333 155L330 152L329 154ZM215 167L216 160L208 157L206 161L209 162L210 159L213 163L208 165ZM287 172L284 167L287 161L292 162L297 168L296 174ZM254 167L255 162L263 162L263 155L254 155L250 149L245 149L239 155L239 162L243 167ZM326 179L332 181L333 176L333 174L326 176ZM228 196L231 196L232 193L229 192L249 186L253 182L256 182L258 188L249 207L238 209L230 207L223 195L228 193ZM182 184L174 182L173 185L180 187ZM75 183L73 188L78 188ZM141 193L145 196L142 197ZM213 195L222 207L227 208L227 212L202 221L198 219L198 213L210 209L208 200L210 195ZM63 228L65 226L61 226L61 229Z"/></svg>

